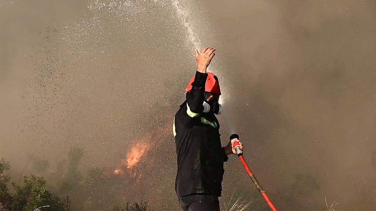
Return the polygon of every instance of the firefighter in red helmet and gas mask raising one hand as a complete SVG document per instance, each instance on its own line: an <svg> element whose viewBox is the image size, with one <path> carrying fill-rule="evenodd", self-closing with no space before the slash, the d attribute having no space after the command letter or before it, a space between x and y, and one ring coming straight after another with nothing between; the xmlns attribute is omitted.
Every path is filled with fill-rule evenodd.
<svg viewBox="0 0 376 211"><path fill-rule="evenodd" d="M219 210L218 197L222 192L223 162L235 154L232 145L239 142L230 136L227 146L221 147L219 122L215 115L222 111L219 104L221 90L217 76L206 72L214 47L205 47L199 53L196 75L186 91L186 100L180 105L173 121L177 153L175 191L183 210Z"/></svg>

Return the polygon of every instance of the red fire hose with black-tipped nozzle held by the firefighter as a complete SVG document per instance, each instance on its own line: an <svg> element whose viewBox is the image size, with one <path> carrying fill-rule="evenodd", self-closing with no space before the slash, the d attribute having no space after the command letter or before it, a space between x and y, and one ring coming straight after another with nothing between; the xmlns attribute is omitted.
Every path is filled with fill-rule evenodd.
<svg viewBox="0 0 376 211"><path fill-rule="evenodd" d="M235 138L239 139L238 134L232 134L230 136L230 140L235 139ZM273 203L269 199L268 195L266 194L265 190L262 189L260 183L257 181L255 175L252 173L251 169L249 168L248 164L246 163L246 160L244 160L243 149L241 149L239 142L234 142L232 147L235 149L236 154L238 155L238 157L241 161L241 164L243 164L244 169L246 169L246 171L247 171L249 177L251 178L253 184L255 184L257 190L261 193L262 197L264 197L265 201L270 206L270 209L273 210L273 211L277 211L277 208L273 205Z"/></svg>

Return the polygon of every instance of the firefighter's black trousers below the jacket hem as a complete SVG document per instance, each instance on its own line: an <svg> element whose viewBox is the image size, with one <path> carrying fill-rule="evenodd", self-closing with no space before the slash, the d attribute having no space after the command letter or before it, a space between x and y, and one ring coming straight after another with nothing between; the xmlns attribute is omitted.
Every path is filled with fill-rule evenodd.
<svg viewBox="0 0 376 211"><path fill-rule="evenodd" d="M218 197L213 195L193 194L182 196L179 199L179 203L183 210L219 211Z"/></svg>

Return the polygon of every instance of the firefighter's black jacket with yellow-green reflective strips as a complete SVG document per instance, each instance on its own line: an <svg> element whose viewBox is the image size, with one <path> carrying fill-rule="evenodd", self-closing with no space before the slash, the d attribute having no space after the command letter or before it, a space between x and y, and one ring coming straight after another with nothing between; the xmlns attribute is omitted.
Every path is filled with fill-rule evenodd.
<svg viewBox="0 0 376 211"><path fill-rule="evenodd" d="M177 197L193 193L221 196L223 162L219 122L214 113L201 113L207 73L196 72L192 89L180 105L173 123L177 153L175 191Z"/></svg>

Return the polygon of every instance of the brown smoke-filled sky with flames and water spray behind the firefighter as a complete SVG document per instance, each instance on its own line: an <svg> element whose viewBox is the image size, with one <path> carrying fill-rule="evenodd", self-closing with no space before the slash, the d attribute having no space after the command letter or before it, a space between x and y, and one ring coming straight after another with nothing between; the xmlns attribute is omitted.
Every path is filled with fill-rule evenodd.
<svg viewBox="0 0 376 211"><path fill-rule="evenodd" d="M0 3L12 181L43 176L73 209L179 209L172 119L194 47L213 45L222 144L240 134L276 207L376 208L375 1ZM267 210L238 159L225 164L222 209Z"/></svg>

